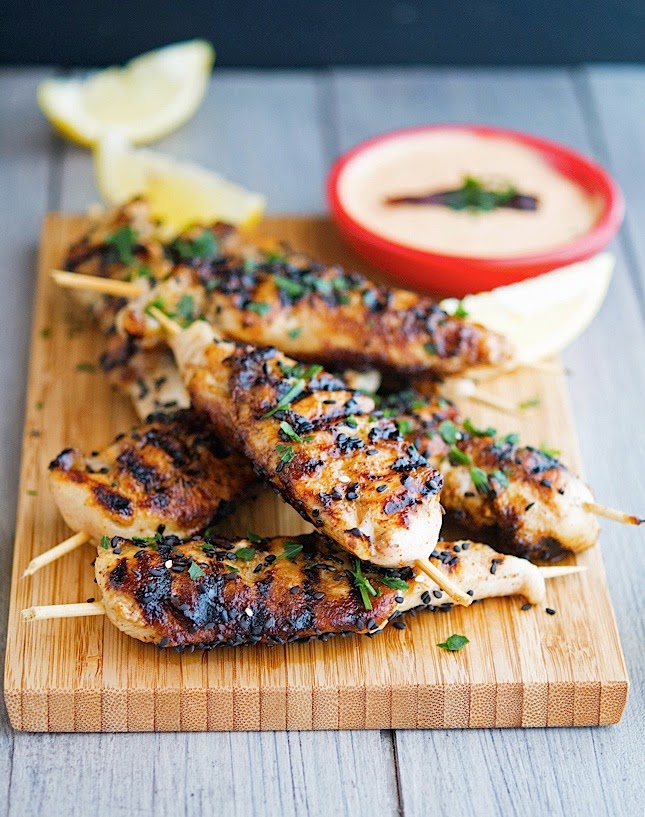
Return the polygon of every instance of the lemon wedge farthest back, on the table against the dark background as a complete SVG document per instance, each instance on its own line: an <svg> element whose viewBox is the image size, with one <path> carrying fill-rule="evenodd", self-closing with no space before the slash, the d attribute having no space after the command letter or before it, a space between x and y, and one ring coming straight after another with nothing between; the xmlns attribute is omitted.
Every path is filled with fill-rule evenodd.
<svg viewBox="0 0 645 817"><path fill-rule="evenodd" d="M81 145L95 144L110 128L147 144L195 113L214 59L204 40L168 45L85 80L46 80L38 87L38 104L63 136Z"/></svg>

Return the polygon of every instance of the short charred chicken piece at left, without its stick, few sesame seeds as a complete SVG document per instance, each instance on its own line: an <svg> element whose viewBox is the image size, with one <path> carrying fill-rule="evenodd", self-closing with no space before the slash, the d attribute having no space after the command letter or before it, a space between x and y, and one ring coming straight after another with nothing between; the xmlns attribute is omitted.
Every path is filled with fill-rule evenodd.
<svg viewBox="0 0 645 817"><path fill-rule="evenodd" d="M249 462L189 410L153 415L89 456L68 448L49 468L65 522L95 541L148 536L160 524L190 536L230 513L257 482Z"/></svg>

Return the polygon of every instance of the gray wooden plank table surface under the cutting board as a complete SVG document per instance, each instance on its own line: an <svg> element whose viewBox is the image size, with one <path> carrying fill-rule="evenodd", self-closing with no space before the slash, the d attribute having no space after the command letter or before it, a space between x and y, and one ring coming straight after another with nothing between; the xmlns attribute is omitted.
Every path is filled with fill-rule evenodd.
<svg viewBox="0 0 645 817"><path fill-rule="evenodd" d="M86 151L40 115L56 71L0 70L0 650L12 560L38 233L48 209L98 199ZM570 392L601 502L645 511L645 68L217 71L197 116L159 148L322 212L333 157L390 128L482 121L596 156L627 198L602 311L571 346ZM61 815L641 815L645 749L642 531L602 549L632 688L598 729L238 734L14 733L0 704L0 817Z"/></svg>

